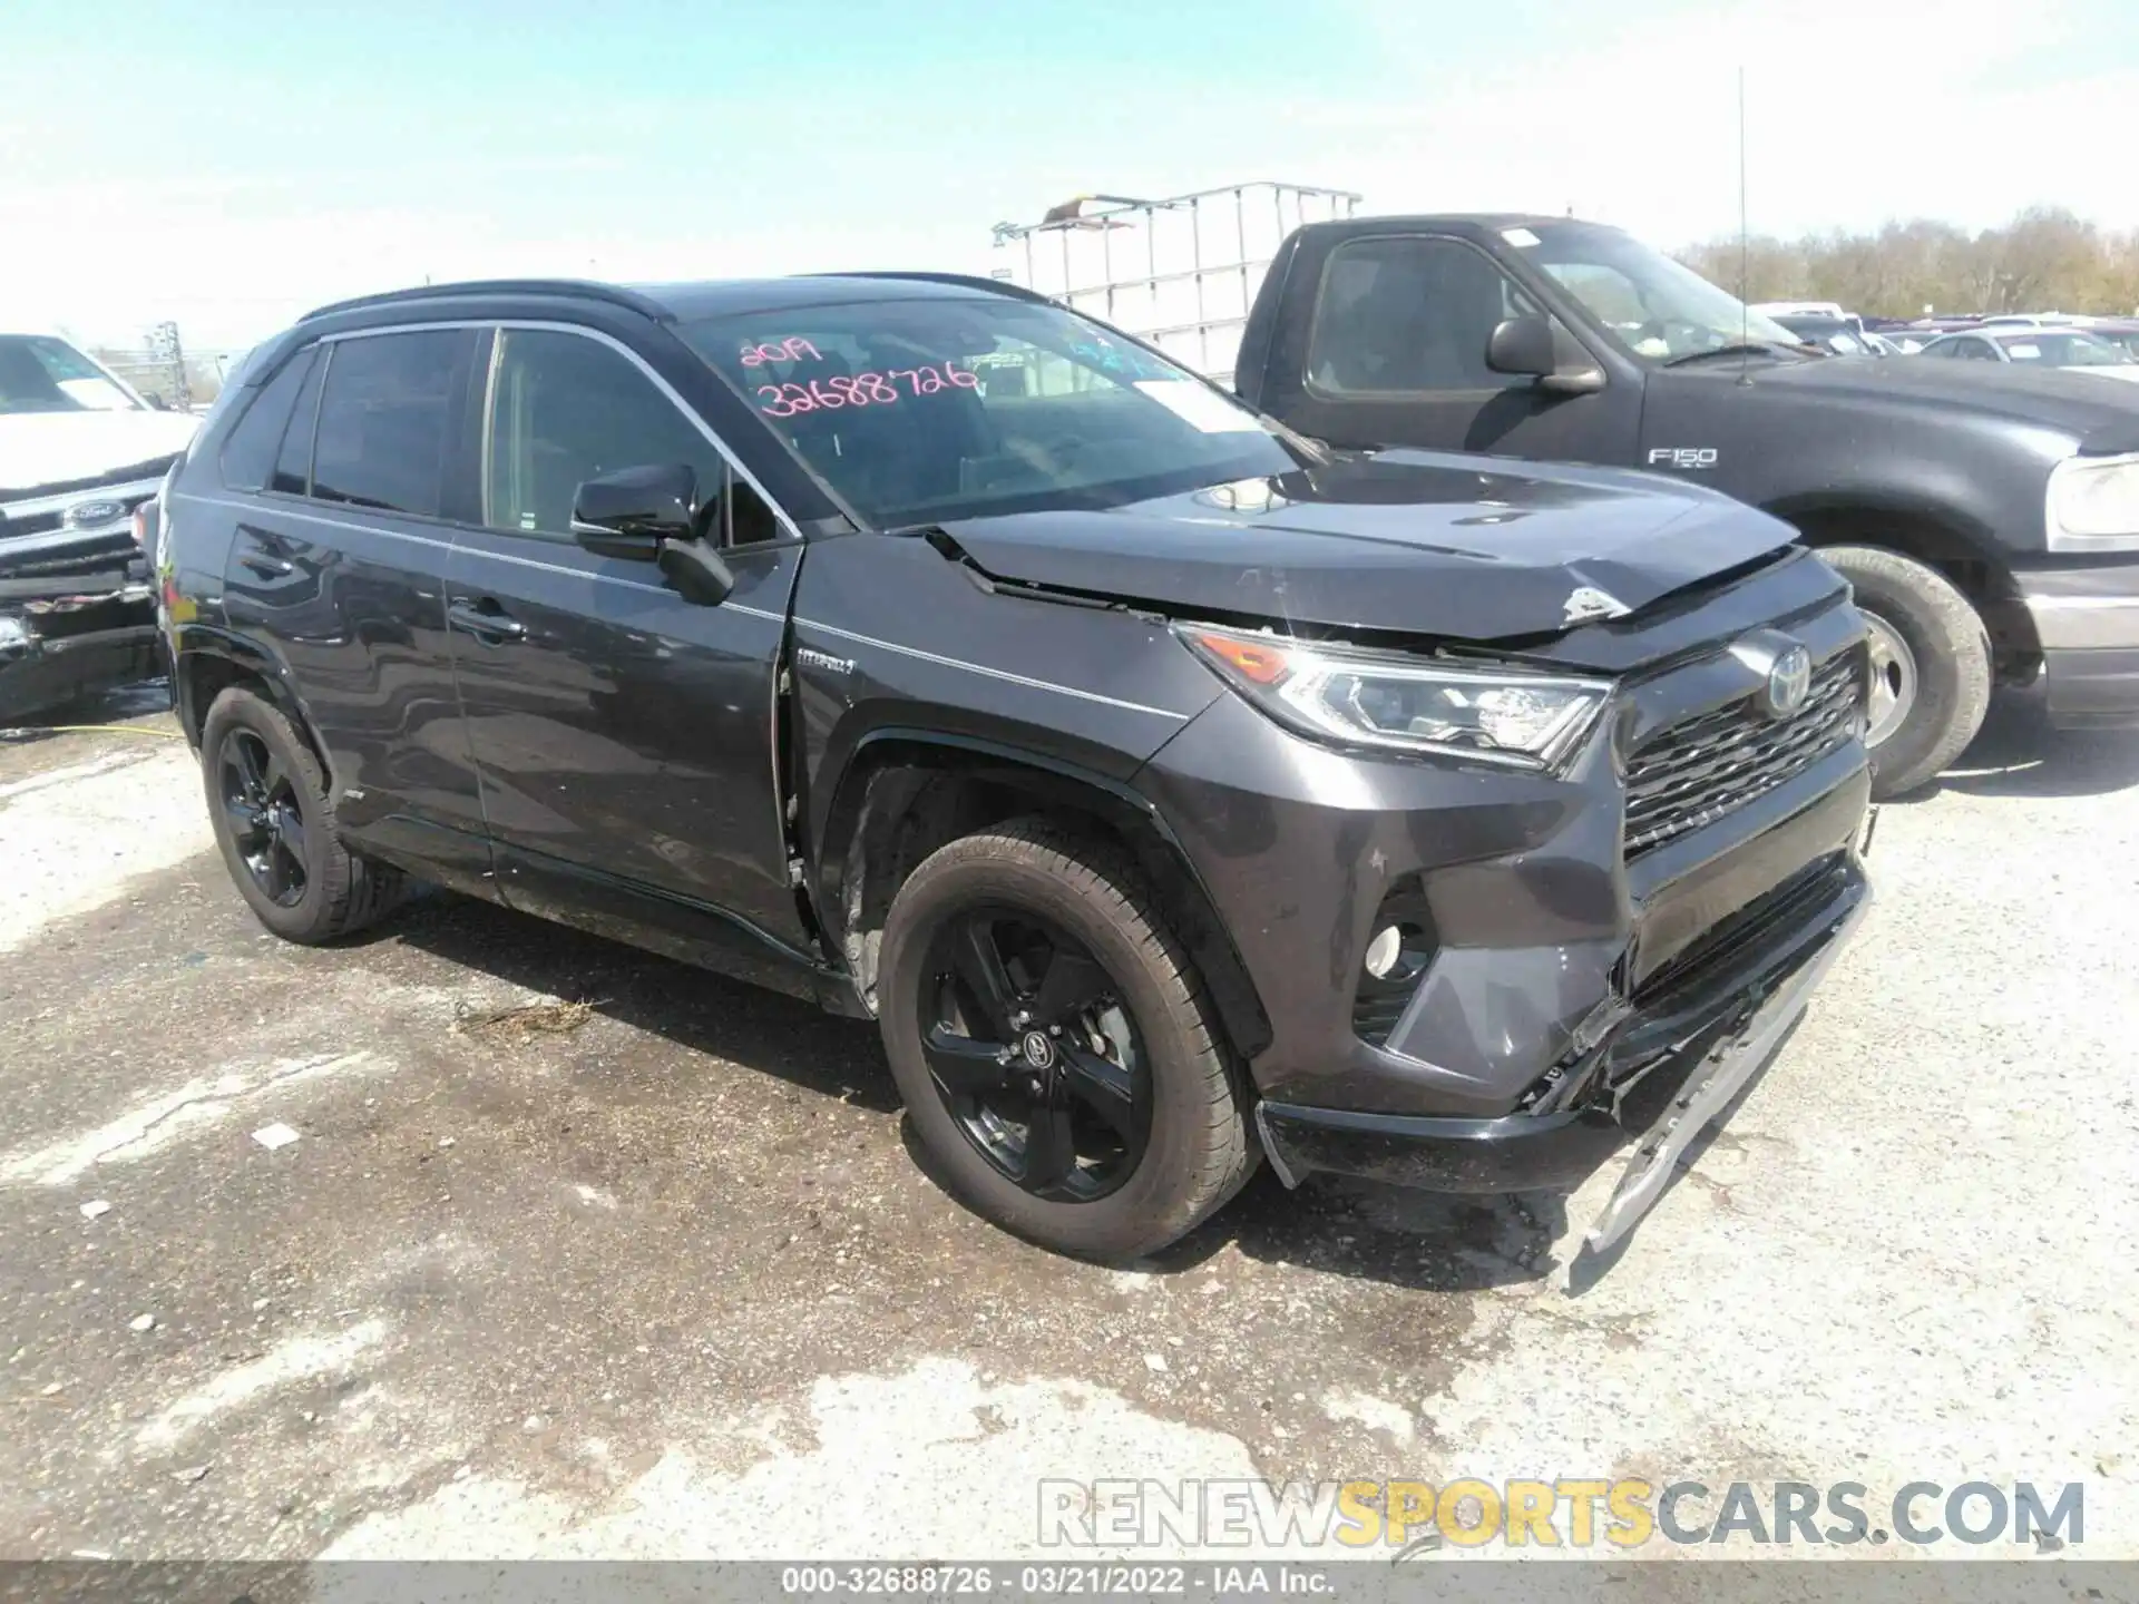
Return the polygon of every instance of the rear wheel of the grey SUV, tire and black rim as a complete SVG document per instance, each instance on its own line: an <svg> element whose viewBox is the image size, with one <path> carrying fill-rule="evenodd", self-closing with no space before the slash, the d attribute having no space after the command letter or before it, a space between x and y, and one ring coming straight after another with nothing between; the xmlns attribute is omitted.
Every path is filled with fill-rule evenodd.
<svg viewBox="0 0 2139 1604"><path fill-rule="evenodd" d="M400 870L342 845L319 757L265 697L231 687L214 699L201 783L237 894L284 941L336 941L400 903Z"/></svg>

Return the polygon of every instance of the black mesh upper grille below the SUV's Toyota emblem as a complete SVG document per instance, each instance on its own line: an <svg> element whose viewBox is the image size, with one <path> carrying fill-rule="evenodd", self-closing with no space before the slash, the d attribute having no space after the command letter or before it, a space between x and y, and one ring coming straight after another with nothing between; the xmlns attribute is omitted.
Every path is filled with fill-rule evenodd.
<svg viewBox="0 0 2139 1604"><path fill-rule="evenodd" d="M1829 657L1805 706L1771 719L1754 697L1664 725L1626 764L1626 853L1636 858L1803 774L1857 734L1863 650Z"/></svg>

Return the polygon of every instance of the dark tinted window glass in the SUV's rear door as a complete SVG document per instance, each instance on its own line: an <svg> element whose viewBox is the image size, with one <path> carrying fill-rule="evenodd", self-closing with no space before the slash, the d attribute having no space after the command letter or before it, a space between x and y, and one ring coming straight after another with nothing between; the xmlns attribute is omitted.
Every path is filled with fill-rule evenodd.
<svg viewBox="0 0 2139 1604"><path fill-rule="evenodd" d="M338 340L319 398L312 496L436 518L468 329Z"/></svg>

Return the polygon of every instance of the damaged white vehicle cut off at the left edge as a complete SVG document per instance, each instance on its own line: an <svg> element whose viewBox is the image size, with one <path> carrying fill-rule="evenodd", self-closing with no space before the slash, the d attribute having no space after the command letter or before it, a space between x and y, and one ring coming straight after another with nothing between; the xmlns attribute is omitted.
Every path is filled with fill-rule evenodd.
<svg viewBox="0 0 2139 1604"><path fill-rule="evenodd" d="M0 325L0 725L158 672L135 511L197 428L58 334Z"/></svg>

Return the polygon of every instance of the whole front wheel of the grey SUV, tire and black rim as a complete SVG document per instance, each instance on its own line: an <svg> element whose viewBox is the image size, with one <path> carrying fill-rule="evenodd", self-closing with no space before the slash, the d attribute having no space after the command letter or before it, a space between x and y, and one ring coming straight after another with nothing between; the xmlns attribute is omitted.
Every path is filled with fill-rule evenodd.
<svg viewBox="0 0 2139 1604"><path fill-rule="evenodd" d="M1016 819L937 849L892 903L877 994L915 1133L1018 1236L1134 1260L1253 1168L1202 980L1112 847Z"/></svg>

